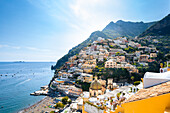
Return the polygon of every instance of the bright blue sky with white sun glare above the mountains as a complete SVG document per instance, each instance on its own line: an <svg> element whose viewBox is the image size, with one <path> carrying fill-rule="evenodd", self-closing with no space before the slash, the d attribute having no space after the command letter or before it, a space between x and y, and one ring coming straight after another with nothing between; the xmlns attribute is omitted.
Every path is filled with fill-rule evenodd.
<svg viewBox="0 0 170 113"><path fill-rule="evenodd" d="M158 21L170 0L0 0L0 61L57 61L109 22Z"/></svg>

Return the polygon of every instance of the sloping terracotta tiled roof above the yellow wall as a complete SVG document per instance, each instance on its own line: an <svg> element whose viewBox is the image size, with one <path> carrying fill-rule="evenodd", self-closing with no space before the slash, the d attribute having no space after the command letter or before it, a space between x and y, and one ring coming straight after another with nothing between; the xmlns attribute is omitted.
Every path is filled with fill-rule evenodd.
<svg viewBox="0 0 170 113"><path fill-rule="evenodd" d="M141 89L136 94L132 95L128 98L125 103L147 99L151 97L156 97L162 94L170 93L170 81L166 83L162 83L160 85L156 85L147 89Z"/></svg>

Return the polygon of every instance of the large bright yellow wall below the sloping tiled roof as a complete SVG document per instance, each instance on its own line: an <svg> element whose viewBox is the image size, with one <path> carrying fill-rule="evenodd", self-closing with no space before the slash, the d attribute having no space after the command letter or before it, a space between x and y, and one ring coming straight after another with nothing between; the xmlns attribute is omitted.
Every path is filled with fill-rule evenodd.
<svg viewBox="0 0 170 113"><path fill-rule="evenodd" d="M122 104L124 113L164 113L170 108L170 93Z"/></svg>

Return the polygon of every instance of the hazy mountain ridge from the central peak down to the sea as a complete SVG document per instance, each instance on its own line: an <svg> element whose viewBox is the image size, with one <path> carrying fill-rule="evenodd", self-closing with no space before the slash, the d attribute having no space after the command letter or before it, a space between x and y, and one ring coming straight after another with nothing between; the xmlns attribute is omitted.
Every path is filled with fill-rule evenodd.
<svg viewBox="0 0 170 113"><path fill-rule="evenodd" d="M82 43L78 44L77 46L73 47L72 49L69 50L69 52L64 55L62 58L60 58L56 65L54 66L54 69L56 68L60 68L66 61L68 61L68 58L73 56L73 55L76 55L80 52L81 49L83 49L84 47L86 47L89 43L92 43L93 41L97 40L98 37L102 37L102 38L105 38L105 39L114 39L114 38L117 38L117 37L120 37L120 36L126 36L126 37L129 37L129 38L134 38L135 36L138 36L140 32L143 32L145 29L148 28L149 25L152 25L154 22L150 22L150 24L147 24L147 25L144 25L145 27L142 29L140 29L140 31L138 33L130 33L129 31L127 32L126 29L127 26L130 24L134 24L137 25L137 24L145 24L143 22L125 22L125 21L122 21L122 20L118 20L116 23L114 23L113 21L111 21L102 31L95 31L93 33L91 33L91 35L85 40L83 41ZM127 24L127 25L122 25L122 24ZM122 27L123 26L123 27ZM136 27L134 26L130 26L132 28L130 29L136 29ZM106 29L109 29L109 30L112 30L111 33L109 32L105 32ZM115 35L116 37L113 37L112 34L118 34L118 35ZM125 35L124 35L125 34Z"/></svg>

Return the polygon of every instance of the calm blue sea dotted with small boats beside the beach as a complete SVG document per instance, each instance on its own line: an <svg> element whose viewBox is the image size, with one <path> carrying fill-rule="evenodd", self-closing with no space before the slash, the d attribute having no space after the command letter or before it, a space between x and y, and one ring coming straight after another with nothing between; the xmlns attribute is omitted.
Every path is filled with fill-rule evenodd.
<svg viewBox="0 0 170 113"><path fill-rule="evenodd" d="M0 62L0 113L17 113L45 96L31 96L48 85L55 62Z"/></svg>

